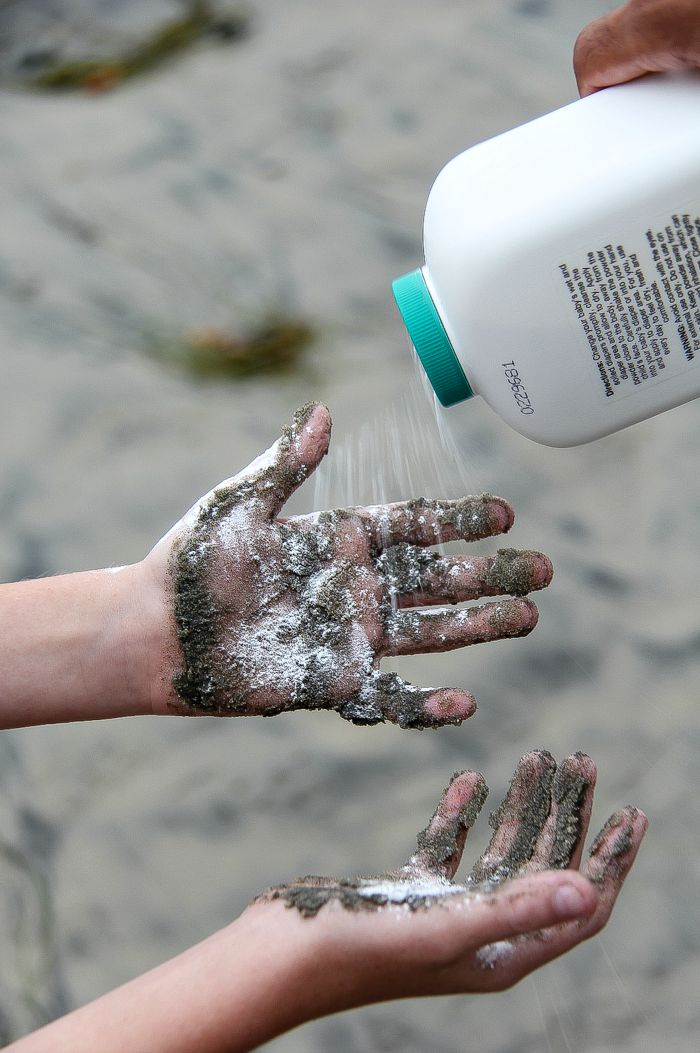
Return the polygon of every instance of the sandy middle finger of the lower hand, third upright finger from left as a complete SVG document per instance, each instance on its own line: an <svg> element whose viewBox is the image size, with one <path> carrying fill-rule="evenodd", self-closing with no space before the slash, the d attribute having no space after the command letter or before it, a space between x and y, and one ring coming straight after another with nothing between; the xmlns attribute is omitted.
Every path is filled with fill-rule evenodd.
<svg viewBox="0 0 700 1053"><path fill-rule="evenodd" d="M566 757L552 782L549 815L525 869L578 868L588 829L596 766L584 753Z"/></svg>

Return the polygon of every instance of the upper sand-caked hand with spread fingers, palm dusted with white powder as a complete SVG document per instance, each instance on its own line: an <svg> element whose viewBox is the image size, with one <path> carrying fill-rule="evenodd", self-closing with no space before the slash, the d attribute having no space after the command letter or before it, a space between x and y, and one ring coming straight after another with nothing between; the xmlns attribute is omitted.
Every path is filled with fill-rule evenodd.
<svg viewBox="0 0 700 1053"><path fill-rule="evenodd" d="M180 652L171 706L269 716L334 709L356 723L459 723L472 695L420 689L383 673L384 655L446 651L523 636L524 598L446 611L416 607L523 597L552 578L536 552L441 556L427 547L509 530L511 506L484 495L278 518L328 449L323 405L300 410L282 437L203 497L147 559L169 576Z"/></svg>

